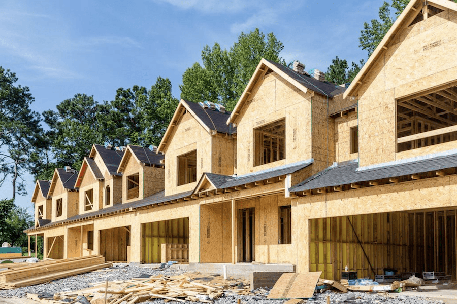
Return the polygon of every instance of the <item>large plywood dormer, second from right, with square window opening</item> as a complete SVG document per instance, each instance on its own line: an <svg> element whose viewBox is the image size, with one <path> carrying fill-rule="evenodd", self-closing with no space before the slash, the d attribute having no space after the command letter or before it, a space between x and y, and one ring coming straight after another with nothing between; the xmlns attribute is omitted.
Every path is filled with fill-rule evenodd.
<svg viewBox="0 0 457 304"><path fill-rule="evenodd" d="M262 59L230 119L237 127L237 174L314 160L315 172L335 160L334 127L328 105L345 88Z"/></svg>

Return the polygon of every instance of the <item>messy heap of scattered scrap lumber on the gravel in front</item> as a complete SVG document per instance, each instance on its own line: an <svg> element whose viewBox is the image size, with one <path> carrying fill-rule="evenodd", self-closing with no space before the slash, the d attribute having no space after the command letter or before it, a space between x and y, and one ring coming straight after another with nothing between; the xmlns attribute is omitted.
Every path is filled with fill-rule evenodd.
<svg viewBox="0 0 457 304"><path fill-rule="evenodd" d="M29 294L28 297L43 304L71 302L82 297L91 304L133 304L150 299L212 303L226 292L248 295L249 288L249 281L241 279L224 280L220 276L204 277L193 273L174 277L160 274L146 279L93 283L93 287L90 288L56 293L53 299L40 298L36 294Z"/></svg>

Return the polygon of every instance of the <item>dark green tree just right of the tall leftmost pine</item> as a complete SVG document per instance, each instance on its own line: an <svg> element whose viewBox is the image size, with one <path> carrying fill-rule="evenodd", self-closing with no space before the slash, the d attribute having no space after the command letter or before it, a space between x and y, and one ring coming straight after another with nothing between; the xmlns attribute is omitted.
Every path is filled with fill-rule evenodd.
<svg viewBox="0 0 457 304"><path fill-rule="evenodd" d="M76 94L57 105L57 111L43 112L44 120L52 138L51 149L55 156L55 165L70 165L79 169L83 157L89 154L92 144L104 144L106 132L104 120L109 109L99 104L93 96Z"/></svg>

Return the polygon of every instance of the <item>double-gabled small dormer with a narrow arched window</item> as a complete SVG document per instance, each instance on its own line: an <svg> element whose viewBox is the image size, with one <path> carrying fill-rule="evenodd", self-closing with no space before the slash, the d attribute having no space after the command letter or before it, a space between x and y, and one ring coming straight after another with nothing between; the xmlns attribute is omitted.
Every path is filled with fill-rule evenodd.
<svg viewBox="0 0 457 304"><path fill-rule="evenodd" d="M122 202L122 174L117 168L124 155L120 149L94 144L85 157L75 183L79 188L79 214Z"/></svg>

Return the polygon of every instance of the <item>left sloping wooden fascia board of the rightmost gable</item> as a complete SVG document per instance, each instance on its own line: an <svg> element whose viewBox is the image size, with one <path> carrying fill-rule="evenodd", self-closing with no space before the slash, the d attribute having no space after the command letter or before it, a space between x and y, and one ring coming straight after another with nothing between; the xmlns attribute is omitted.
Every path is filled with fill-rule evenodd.
<svg viewBox="0 0 457 304"><path fill-rule="evenodd" d="M437 0L436 0L437 1ZM441 1L441 0L438 0ZM446 2L450 2L449 0L444 0ZM420 8L416 8L416 4L419 4ZM412 9L414 7L414 10ZM420 11L422 9L422 1L421 0L412 0L411 2L408 3L406 8L403 10L403 12L400 14L400 16L397 18L397 20L394 22L394 24L390 27L390 29L387 31L385 34L384 38L381 40L379 45L376 47L374 52L371 54L370 58L368 58L367 62L364 64L362 69L357 73L355 76L354 80L351 82L347 90L343 94L343 98L347 98L348 96L355 95L356 93L356 88L358 89L358 85L362 84L362 79L365 77L365 75L369 72L371 67L374 65L374 63L377 61L378 57L381 55L383 51L385 51L385 47L387 47L387 44L390 42L390 40L393 38L393 36L397 33L397 30L401 28L401 26L406 23L405 20L409 16L411 11ZM409 18L408 18L409 19Z"/></svg>

